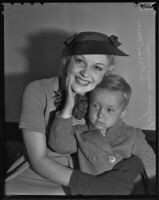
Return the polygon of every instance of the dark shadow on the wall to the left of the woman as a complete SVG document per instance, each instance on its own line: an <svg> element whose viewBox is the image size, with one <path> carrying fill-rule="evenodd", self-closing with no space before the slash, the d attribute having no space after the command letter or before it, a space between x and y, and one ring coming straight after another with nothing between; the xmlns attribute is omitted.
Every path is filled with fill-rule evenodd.
<svg viewBox="0 0 159 200"><path fill-rule="evenodd" d="M28 45L19 51L25 56L27 73L5 77L6 121L18 121L22 93L29 82L58 75L63 42L71 34L61 30L42 30L26 36Z"/></svg>

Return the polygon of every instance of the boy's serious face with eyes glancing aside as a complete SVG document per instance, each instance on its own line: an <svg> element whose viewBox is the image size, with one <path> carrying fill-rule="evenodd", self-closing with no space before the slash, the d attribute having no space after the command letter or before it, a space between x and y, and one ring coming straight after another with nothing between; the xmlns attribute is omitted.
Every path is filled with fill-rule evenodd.
<svg viewBox="0 0 159 200"><path fill-rule="evenodd" d="M121 118L124 111L121 92L97 88L90 99L89 122L93 128L106 131Z"/></svg>

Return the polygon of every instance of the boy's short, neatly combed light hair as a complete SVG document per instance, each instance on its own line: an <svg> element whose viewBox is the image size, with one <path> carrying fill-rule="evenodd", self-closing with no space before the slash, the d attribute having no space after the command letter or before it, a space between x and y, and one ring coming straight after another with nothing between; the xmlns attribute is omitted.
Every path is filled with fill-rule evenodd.
<svg viewBox="0 0 159 200"><path fill-rule="evenodd" d="M124 107L126 107L129 103L131 96L131 87L124 78L117 74L110 73L104 76L103 80L96 86L96 88L102 88L108 91L122 92Z"/></svg>

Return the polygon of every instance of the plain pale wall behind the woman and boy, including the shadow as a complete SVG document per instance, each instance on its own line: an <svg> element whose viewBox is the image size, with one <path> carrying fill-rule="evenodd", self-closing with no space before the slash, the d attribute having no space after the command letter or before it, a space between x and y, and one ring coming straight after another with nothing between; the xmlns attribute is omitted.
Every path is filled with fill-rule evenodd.
<svg viewBox="0 0 159 200"><path fill-rule="evenodd" d="M63 41L75 32L118 35L129 57L115 72L132 86L125 121L155 129L155 11L134 3L4 3L5 120L17 122L23 90L58 74Z"/></svg>

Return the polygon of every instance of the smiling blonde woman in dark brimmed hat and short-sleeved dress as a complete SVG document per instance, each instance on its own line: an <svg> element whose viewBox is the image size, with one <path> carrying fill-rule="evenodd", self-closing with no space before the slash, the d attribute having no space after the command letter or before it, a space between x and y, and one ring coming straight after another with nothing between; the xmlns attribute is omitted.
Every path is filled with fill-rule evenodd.
<svg viewBox="0 0 159 200"><path fill-rule="evenodd" d="M112 70L114 56L127 54L118 48L121 44L118 37L108 37L98 32L75 34L64 44L61 56L64 64L62 75L33 81L25 88L19 127L26 147L26 162L18 166L18 170L6 180L6 195L64 195L62 186L70 186L71 194L83 193L75 188L80 187L81 172L73 169L71 156L58 154L49 148L47 136L50 124L55 111L63 109L67 95L65 88L70 77L71 88L78 94L73 123L84 123L86 109L83 108L87 107L85 94L93 90L105 74ZM9 171L15 166L17 163ZM82 173L82 187L88 186L89 181L94 178ZM74 182L78 182L76 186Z"/></svg>

